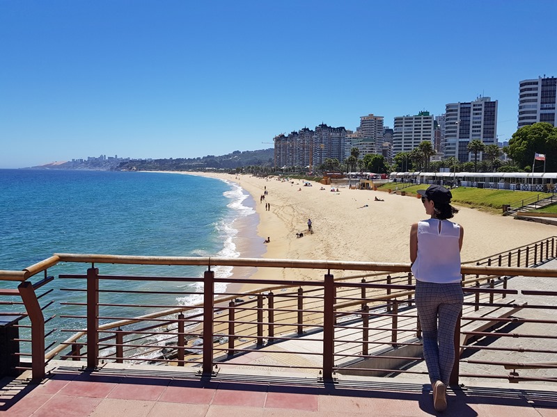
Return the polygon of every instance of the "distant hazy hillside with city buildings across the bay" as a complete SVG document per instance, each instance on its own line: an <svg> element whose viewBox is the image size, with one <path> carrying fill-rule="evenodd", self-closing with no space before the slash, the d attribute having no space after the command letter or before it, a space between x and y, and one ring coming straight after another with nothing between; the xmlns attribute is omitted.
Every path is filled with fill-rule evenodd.
<svg viewBox="0 0 557 417"><path fill-rule="evenodd" d="M198 158L168 158L168 159L107 159L99 161L69 161L55 162L33 167L43 170L116 170L116 171L193 171L207 168L235 169L249 165L272 167L274 164L274 149L260 149L257 151L234 151L231 154L214 156L207 155Z"/></svg>

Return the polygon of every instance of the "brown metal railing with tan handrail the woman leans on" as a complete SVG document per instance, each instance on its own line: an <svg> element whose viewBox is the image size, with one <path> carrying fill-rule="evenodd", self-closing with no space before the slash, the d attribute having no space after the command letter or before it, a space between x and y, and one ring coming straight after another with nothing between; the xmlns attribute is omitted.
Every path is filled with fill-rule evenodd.
<svg viewBox="0 0 557 417"><path fill-rule="evenodd" d="M508 288L510 277L519 275L557 278L557 270L531 268L554 257L555 238L550 238L474 261L476 265L462 265L466 297L455 334L455 350L459 353L489 350L489 345L476 341L504 338L505 333L488 330L508 322L547 327L543 334L513 334L514 338L557 338L549 331L556 327L557 321L515 317L517 311L526 309L557 309L554 302L557 291L533 290L531 286ZM71 333L72 336L51 343L45 353L45 338L55 329L45 330L47 320L42 317L42 310L47 306L39 306L38 300L43 295L37 297L34 290L52 285L47 270L74 263L87 264L86 274L59 274L56 281L70 282L73 288L59 288L60 293L68 295L65 301L60 302L58 295L54 298L64 311L70 311L56 320L72 323L58 335ZM198 265L205 272L201 277L101 275L100 264L168 265L170 269ZM219 277L214 272L217 265L305 269L315 271L316 275L311 281ZM31 284L28 280L40 272L44 272L45 278ZM335 278L332 272L342 276ZM56 254L21 272L0 271L0 279L22 281L17 290L4 290L0 295L21 295L26 314L31 318L30 338L20 342L31 343L33 379L44 377L45 363L53 358L86 360L88 368L95 368L100 361L173 363L194 366L203 374L211 374L215 366L244 363L319 372L329 380L334 379L335 373L425 373L407 367L423 358L421 329L414 309L414 278L406 263ZM259 289L233 291L238 285L246 284ZM188 285L190 289L185 289ZM223 285L228 285L227 289L217 291ZM199 286L203 289L198 289ZM155 295L172 302L153 302ZM535 296L542 302L519 304L511 299L517 295ZM177 305L177 296L203 297L203 302ZM125 300L131 297L134 302ZM83 311L71 313L74 309ZM300 343L304 344L303 348ZM557 354L552 347L524 350L512 343L495 350L546 354L549 359L544 361L544 366L554 360L551 355ZM258 363L249 359L254 352L268 360ZM460 356L457 354L457 358ZM289 359L279 360L280 357ZM535 364L512 361L512 357L495 363L499 367L515 366L509 375L460 371L461 365L473 363L478 361L457 360L451 382L457 383L459 375L500 377L513 382L557 381L555 377L519 376L517 369Z"/></svg>

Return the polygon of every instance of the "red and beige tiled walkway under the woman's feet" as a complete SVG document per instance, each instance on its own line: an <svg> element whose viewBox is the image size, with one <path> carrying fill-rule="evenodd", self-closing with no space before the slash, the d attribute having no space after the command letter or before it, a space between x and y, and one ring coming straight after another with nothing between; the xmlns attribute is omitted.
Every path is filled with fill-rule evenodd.
<svg viewBox="0 0 557 417"><path fill-rule="evenodd" d="M57 362L39 385L1 381L0 416L320 417L432 416L429 384L346 377L324 384L308 374L111 364L93 373ZM281 374L279 374L281 375ZM448 391L446 416L557 417L551 386L488 384Z"/></svg>

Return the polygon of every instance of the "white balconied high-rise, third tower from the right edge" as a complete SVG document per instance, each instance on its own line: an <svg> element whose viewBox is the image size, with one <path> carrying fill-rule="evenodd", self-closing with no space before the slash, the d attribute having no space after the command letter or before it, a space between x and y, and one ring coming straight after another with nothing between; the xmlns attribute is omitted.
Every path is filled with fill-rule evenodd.
<svg viewBox="0 0 557 417"><path fill-rule="evenodd" d="M395 117L393 133L393 155L400 152L410 152L420 145L420 142L433 142L433 116L428 111L421 111L415 116Z"/></svg>

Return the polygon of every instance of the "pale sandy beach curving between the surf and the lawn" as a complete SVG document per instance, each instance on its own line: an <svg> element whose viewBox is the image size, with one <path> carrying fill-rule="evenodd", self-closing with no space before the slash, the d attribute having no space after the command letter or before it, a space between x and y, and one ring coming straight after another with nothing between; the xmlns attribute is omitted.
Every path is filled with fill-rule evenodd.
<svg viewBox="0 0 557 417"><path fill-rule="evenodd" d="M291 183L249 174L198 175L239 183L255 199L259 239L253 242L253 238L250 241L238 238L237 249L242 257L253 256L253 248L259 249L261 245L266 248L264 258L409 263L410 226L426 218L416 197L349 188L340 188L337 193L331 192L331 186L320 189L320 183L313 182L309 187L299 180ZM267 196L260 202L265 190ZM376 196L384 202L376 202ZM269 210L265 203L270 204ZM313 234L306 233L308 218L313 222ZM463 263L555 234L554 226L548 224L514 220L472 208L460 208L453 220L464 227ZM299 232L304 237L297 238ZM264 243L267 237L270 243ZM297 276L292 276L292 272ZM270 268L258 270L253 278L310 279L311 274L308 270L290 270L286 277L284 270Z"/></svg>

